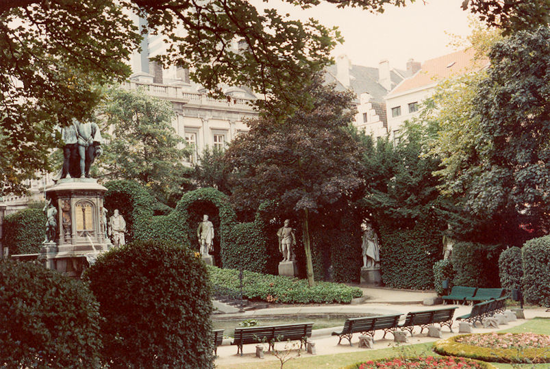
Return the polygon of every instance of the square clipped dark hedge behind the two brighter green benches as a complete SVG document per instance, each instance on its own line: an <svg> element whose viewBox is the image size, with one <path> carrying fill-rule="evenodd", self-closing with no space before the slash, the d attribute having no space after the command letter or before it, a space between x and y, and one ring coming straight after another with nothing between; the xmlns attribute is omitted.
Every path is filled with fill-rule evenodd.
<svg viewBox="0 0 550 369"><path fill-rule="evenodd" d="M451 261L455 271L453 285L498 288L501 246L458 242L453 246Z"/></svg>

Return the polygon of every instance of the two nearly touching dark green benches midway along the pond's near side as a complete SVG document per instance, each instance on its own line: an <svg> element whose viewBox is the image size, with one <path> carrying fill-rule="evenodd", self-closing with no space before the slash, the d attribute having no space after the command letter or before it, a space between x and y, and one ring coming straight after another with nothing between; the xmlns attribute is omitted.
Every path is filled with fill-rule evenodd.
<svg viewBox="0 0 550 369"><path fill-rule="evenodd" d="M410 332L411 335L414 327L420 327L420 332L429 327L430 325L439 324L440 327L451 328L453 324L453 315L457 307L449 307L446 309L434 309L423 311L411 311L405 316L405 321L399 324L399 318L403 314L390 314L383 316L365 316L363 318L348 318L344 323L344 327L340 332L332 332L332 335L338 335L340 340L346 338L351 345L351 338L353 333L361 333L363 335L370 335L374 340L375 331L384 331L382 338L386 337L386 333L394 333L397 329L405 329Z"/></svg>

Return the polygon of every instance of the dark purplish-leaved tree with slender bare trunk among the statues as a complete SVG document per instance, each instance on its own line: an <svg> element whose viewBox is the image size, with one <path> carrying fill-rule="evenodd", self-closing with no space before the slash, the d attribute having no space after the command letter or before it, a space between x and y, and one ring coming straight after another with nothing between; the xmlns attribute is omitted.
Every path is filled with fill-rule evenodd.
<svg viewBox="0 0 550 369"><path fill-rule="evenodd" d="M258 209L262 201L275 200L301 220L310 285L310 214L336 208L362 188L360 149L347 130L353 120L351 93L324 87L318 77L312 81L312 110L298 111L284 123L258 118L226 153L233 201Z"/></svg>

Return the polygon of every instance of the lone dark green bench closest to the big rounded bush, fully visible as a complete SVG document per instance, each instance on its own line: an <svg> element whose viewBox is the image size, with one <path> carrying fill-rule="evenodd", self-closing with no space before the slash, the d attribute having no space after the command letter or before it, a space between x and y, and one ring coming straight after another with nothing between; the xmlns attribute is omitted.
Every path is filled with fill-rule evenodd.
<svg viewBox="0 0 550 369"><path fill-rule="evenodd" d="M240 356L242 356L243 344L267 342L269 345L268 351L271 351L275 342L300 340L301 348L305 345L308 337L311 337L312 326L312 322L307 322L290 325L236 328L234 341L231 344L237 345L237 353L240 352Z"/></svg>

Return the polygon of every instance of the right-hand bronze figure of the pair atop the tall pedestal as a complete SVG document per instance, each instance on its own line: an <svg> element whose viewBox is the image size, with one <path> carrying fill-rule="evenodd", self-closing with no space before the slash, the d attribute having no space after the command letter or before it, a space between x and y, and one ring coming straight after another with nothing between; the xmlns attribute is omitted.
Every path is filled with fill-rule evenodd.
<svg viewBox="0 0 550 369"><path fill-rule="evenodd" d="M96 123L75 123L78 139L78 155L80 157L80 178L90 178L90 166L96 157L101 155L101 132Z"/></svg>

